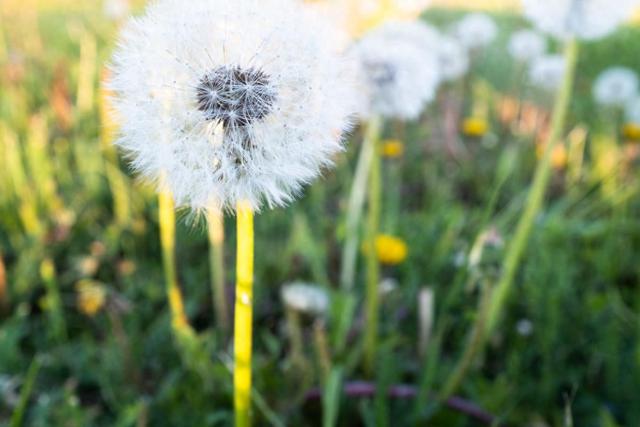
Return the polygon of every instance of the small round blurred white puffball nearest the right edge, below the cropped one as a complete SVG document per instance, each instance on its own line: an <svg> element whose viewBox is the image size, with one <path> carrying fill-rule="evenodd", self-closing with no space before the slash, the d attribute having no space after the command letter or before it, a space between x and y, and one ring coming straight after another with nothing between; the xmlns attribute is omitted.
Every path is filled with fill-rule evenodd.
<svg viewBox="0 0 640 427"><path fill-rule="evenodd" d="M593 84L593 98L600 105L621 107L638 93L638 75L629 68L611 67Z"/></svg>

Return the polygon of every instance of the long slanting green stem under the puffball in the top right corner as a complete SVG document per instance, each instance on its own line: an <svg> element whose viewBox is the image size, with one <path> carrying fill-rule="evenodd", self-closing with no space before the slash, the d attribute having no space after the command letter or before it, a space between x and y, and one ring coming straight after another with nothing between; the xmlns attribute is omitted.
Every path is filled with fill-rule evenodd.
<svg viewBox="0 0 640 427"><path fill-rule="evenodd" d="M533 185L531 187L525 210L518 222L515 235L507 248L506 257L502 269L502 277L492 293L488 306L487 334L490 334L496 326L502 307L513 285L515 274L518 271L522 256L524 255L533 224L542 209L547 186L551 177L551 158L553 150L562 139L571 95L575 79L575 71L578 62L578 42L572 39L568 42L565 51L566 71L564 80L553 109L551 132L546 143L544 156L536 167Z"/></svg>

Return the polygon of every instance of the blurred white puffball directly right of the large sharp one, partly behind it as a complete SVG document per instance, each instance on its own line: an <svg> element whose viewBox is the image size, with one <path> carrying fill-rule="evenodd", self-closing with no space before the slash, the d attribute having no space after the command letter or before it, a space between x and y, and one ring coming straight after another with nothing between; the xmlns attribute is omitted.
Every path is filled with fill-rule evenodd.
<svg viewBox="0 0 640 427"><path fill-rule="evenodd" d="M351 49L365 92L361 114L415 119L435 98L440 83L437 58L395 32L382 30L371 32Z"/></svg>

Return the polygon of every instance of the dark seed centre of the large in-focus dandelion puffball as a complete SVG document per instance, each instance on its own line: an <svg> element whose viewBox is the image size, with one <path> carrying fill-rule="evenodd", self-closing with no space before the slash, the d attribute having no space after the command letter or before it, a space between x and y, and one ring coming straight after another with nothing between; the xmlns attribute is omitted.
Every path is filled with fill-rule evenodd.
<svg viewBox="0 0 640 427"><path fill-rule="evenodd" d="M243 127L271 112L276 92L262 70L225 65L200 79L196 97L198 110L207 120L219 120L225 127Z"/></svg>

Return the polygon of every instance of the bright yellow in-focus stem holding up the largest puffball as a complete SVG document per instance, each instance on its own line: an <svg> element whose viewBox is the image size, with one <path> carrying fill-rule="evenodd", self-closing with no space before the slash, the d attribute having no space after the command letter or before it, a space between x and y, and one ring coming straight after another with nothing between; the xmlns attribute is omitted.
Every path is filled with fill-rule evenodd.
<svg viewBox="0 0 640 427"><path fill-rule="evenodd" d="M253 210L237 207L236 303L234 324L233 403L236 427L251 425L251 345L253 322Z"/></svg>

